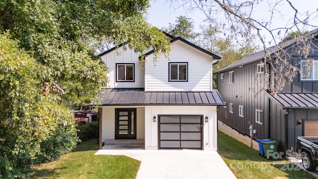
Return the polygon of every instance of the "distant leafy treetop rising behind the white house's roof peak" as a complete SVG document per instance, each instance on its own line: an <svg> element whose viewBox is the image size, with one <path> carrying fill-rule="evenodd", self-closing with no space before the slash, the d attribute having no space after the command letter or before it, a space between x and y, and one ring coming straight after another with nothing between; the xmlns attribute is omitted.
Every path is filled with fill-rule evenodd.
<svg viewBox="0 0 318 179"><path fill-rule="evenodd" d="M198 33L194 32L194 22L191 18L180 15L175 20L175 24L169 23L167 28L162 28L167 33L194 42Z"/></svg>

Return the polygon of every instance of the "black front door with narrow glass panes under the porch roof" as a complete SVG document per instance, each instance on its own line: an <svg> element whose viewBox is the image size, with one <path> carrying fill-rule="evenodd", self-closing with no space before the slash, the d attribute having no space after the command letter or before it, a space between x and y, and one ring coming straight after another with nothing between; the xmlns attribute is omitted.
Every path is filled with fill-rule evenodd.
<svg viewBox="0 0 318 179"><path fill-rule="evenodd" d="M119 112L128 112L128 134L119 134ZM131 122L131 113L134 112L133 124ZM134 126L134 133L131 133L131 126ZM115 108L115 139L137 139L137 108Z"/></svg>

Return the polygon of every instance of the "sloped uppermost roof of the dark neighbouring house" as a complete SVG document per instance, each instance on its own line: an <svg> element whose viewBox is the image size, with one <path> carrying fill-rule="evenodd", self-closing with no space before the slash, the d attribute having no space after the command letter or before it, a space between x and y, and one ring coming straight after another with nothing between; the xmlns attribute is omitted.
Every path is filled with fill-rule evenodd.
<svg viewBox="0 0 318 179"><path fill-rule="evenodd" d="M305 34L307 35L309 38L310 36L316 36L318 33L318 29L315 29L311 32L309 32L309 34ZM226 67L224 67L223 69L221 70L218 70L217 72L215 73L222 73L222 72L225 72L225 71L229 71L229 70L232 70L232 69L235 69L241 65L247 65L247 64L250 64L250 63L254 63L254 62L257 62L257 61L260 61L262 59L264 59L265 57L265 52L266 52L266 56L268 55L273 55L275 52L278 52L281 48L287 50L288 48L291 48L293 44L296 43L296 39L293 38L293 39L290 39L286 42L282 42L276 46L272 46L272 47L269 47L269 48L266 48L265 50L261 50L259 52L256 52L252 55L249 55L245 58L242 58L240 59L239 61L236 61L234 62L233 64L230 64Z"/></svg>

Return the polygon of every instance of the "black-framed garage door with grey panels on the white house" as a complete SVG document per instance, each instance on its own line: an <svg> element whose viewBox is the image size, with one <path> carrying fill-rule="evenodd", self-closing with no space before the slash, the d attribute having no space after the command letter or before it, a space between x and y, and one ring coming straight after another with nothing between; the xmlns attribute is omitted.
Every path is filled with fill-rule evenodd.
<svg viewBox="0 0 318 179"><path fill-rule="evenodd" d="M158 115L159 149L202 149L201 115Z"/></svg>

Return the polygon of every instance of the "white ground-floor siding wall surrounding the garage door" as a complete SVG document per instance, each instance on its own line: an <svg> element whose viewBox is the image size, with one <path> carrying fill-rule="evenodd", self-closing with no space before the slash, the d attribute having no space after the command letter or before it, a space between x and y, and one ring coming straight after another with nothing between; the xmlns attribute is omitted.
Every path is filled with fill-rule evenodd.
<svg viewBox="0 0 318 179"><path fill-rule="evenodd" d="M104 112L104 111L103 111ZM145 106L145 149L158 150L158 115L203 115L203 150L217 150L217 106ZM153 117L157 121L153 121Z"/></svg>

